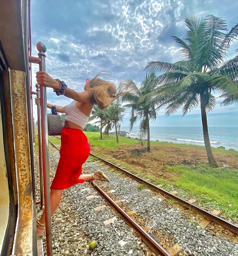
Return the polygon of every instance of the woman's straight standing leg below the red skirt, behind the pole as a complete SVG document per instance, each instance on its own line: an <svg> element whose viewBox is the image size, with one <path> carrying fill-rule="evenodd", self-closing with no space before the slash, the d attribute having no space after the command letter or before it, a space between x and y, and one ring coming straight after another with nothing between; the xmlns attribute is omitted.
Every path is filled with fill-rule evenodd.
<svg viewBox="0 0 238 256"><path fill-rule="evenodd" d="M51 215L54 213L54 211L57 209L57 207L59 206L60 204L60 200L61 200L61 197L62 197L62 192L63 190L55 190L55 189L51 189L50 191L50 212L51 212ZM45 210L43 211L40 219L39 219L39 222L44 224L46 223L46 220L45 220ZM40 229L38 226L36 226L36 231L37 231L37 236L39 235L42 235L44 230Z"/></svg>

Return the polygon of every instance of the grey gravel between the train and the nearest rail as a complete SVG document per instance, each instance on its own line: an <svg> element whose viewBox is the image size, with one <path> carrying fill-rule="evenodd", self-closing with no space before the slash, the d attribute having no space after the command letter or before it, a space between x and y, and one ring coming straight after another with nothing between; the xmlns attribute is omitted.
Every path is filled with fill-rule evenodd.
<svg viewBox="0 0 238 256"><path fill-rule="evenodd" d="M52 151L52 150L51 150ZM49 153L50 179L59 160L59 152ZM95 166L93 163L92 170ZM39 199L38 157L35 156L36 196ZM91 196L87 199L86 197ZM64 190L60 206L53 214L52 245L54 256L64 255L152 255L140 238L133 235L134 230L129 227L109 207L94 210L95 207L105 205L105 201L97 195L88 182L78 184ZM41 211L37 205L37 213ZM105 225L104 221L114 218ZM97 244L90 249L89 242L95 239ZM43 238L44 254L46 254L46 240ZM148 250L148 251L147 251Z"/></svg>

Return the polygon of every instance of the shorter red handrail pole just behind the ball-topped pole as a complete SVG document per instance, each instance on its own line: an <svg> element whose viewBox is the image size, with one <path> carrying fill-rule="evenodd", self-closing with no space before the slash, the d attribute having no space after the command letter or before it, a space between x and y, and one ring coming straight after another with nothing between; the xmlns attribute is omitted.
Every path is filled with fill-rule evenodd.
<svg viewBox="0 0 238 256"><path fill-rule="evenodd" d="M35 85L37 97L40 97L40 85ZM37 104L37 127L38 127L38 149L39 149L39 170L40 170L40 210L44 210L44 193L43 193L43 166L42 166L42 145L41 145L41 120L40 106Z"/></svg>

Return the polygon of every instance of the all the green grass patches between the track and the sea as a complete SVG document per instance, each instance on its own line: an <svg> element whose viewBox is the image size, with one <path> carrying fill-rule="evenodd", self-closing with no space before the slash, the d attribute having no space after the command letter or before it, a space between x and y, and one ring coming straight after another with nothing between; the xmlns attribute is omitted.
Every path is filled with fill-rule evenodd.
<svg viewBox="0 0 238 256"><path fill-rule="evenodd" d="M137 141L132 138L121 137L119 136L119 144L116 143L116 136L109 135L109 138L106 135L103 135L103 139L100 139L100 132L85 132L88 142L91 147L98 147L103 149L112 149L117 150L119 146L123 144L139 144L140 141ZM55 143L59 144L60 139L49 136L49 139ZM35 151L38 152L38 138L37 130L35 136ZM188 144L176 144L176 143L166 143L166 142L156 142L151 141L152 145L160 146L175 146L181 149L189 148L203 148L203 146L188 145ZM146 146L146 143L144 143ZM54 149L49 148L49 152ZM219 152L223 155L231 155L238 157L237 151L228 151L224 149L212 148L213 152ZM163 153L161 153L163 155ZM89 161L93 160L92 157L89 157ZM112 163L118 164L120 161L111 160ZM126 163L123 163L121 166L134 174L137 174L137 170L131 170L130 166L127 166ZM174 185L182 190L186 191L190 196L195 196L198 198L198 202L203 204L206 202L206 205L211 205L211 208L219 207L220 210L226 214L227 217L231 217L233 220L238 220L238 170L224 168L216 169L209 168L207 166L201 165L196 168L192 166L167 166L167 171L174 172L178 175L174 177L174 182L168 182L162 177L156 179L150 177L148 174L141 174L140 177L144 179L150 179L155 185L162 184L164 189L169 189L169 184ZM139 185L138 190L144 189L144 185ZM231 205L231 206L229 206Z"/></svg>

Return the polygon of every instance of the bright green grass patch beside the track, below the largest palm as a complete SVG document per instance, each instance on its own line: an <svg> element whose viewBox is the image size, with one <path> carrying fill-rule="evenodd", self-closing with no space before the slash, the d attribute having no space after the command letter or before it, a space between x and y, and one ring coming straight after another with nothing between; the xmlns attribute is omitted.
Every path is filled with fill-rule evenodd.
<svg viewBox="0 0 238 256"><path fill-rule="evenodd" d="M219 206L227 216L238 218L238 171L236 169L168 166L167 170L179 174L175 177L174 185L194 196L202 194L201 200L214 200L214 205Z"/></svg>

